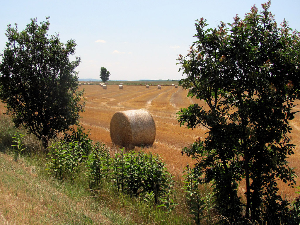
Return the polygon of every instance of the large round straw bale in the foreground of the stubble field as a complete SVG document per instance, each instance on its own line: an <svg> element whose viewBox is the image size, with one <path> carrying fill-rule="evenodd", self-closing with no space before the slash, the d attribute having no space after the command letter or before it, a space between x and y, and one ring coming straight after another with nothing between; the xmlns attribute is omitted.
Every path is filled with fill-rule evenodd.
<svg viewBox="0 0 300 225"><path fill-rule="evenodd" d="M153 145L156 127L147 110L116 112L110 120L112 143L122 146Z"/></svg>

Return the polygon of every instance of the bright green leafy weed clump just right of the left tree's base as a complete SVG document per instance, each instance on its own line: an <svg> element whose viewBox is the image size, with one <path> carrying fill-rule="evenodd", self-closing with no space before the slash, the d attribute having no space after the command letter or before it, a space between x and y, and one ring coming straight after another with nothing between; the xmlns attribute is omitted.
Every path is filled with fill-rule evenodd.
<svg viewBox="0 0 300 225"><path fill-rule="evenodd" d="M86 158L80 143L60 141L52 143L49 149L47 170L51 170L58 179L67 178L69 175L74 178L79 170L79 163Z"/></svg>

